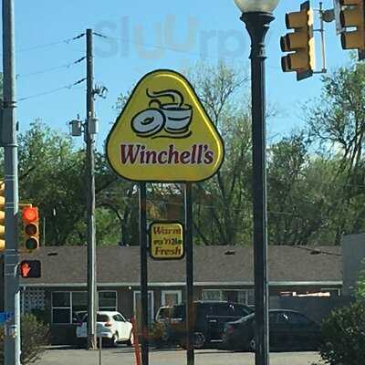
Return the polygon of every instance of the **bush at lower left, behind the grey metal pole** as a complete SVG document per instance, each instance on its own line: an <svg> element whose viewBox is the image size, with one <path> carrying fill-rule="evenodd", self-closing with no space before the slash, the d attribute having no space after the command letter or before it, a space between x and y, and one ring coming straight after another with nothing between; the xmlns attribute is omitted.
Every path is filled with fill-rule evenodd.
<svg viewBox="0 0 365 365"><path fill-rule="evenodd" d="M30 364L40 359L49 345L49 328L39 322L35 316L27 314L21 318L22 365ZM4 327L0 327L0 365L4 365Z"/></svg>

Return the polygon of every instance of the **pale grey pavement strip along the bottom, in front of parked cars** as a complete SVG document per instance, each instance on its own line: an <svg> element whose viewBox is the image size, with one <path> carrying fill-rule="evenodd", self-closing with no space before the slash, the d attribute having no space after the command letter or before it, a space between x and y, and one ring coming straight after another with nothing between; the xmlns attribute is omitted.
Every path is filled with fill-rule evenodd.
<svg viewBox="0 0 365 365"><path fill-rule="evenodd" d="M101 365L135 365L132 349L119 347L102 352ZM312 365L319 357L314 352L273 353L270 365ZM99 351L85 349L48 349L36 365L99 365ZM150 350L150 365L185 365L183 349ZM217 349L195 351L195 365L254 365L252 353Z"/></svg>

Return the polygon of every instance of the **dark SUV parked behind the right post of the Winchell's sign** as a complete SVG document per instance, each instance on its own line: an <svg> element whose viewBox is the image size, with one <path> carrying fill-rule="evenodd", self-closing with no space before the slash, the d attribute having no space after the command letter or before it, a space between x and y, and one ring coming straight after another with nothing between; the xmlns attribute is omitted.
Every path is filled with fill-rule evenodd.
<svg viewBox="0 0 365 365"><path fill-rule="evenodd" d="M222 340L224 324L252 313L253 309L243 304L224 301L196 301L193 304L194 348ZM172 307L167 326L167 335L172 343L186 347L186 309L184 304Z"/></svg>

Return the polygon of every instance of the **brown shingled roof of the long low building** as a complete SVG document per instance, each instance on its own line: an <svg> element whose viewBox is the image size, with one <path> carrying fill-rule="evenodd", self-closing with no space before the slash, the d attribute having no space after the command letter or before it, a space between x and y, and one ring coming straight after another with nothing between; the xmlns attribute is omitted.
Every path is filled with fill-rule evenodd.
<svg viewBox="0 0 365 365"><path fill-rule="evenodd" d="M341 248L326 246L313 250L316 251L308 247L269 246L270 282L341 282ZM21 279L23 284L64 285L87 281L86 246L41 247L32 254L22 254L21 259L25 258L42 262L42 277ZM140 283L140 247L101 247L97 249L97 261L99 284ZM148 270L150 284L185 282L184 259L162 262L149 258ZM205 286L252 284L252 247L194 246L194 282Z"/></svg>

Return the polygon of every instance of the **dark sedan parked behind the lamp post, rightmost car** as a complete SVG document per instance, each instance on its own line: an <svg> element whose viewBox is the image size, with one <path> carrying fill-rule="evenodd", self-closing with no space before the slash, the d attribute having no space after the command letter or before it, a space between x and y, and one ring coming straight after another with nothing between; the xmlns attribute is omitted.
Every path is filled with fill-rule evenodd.
<svg viewBox="0 0 365 365"><path fill-rule="evenodd" d="M255 351L255 313L224 325L225 349ZM305 315L288 309L269 311L270 349L317 350L320 327Z"/></svg>

